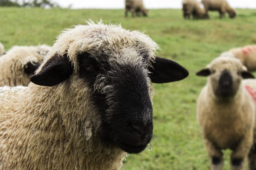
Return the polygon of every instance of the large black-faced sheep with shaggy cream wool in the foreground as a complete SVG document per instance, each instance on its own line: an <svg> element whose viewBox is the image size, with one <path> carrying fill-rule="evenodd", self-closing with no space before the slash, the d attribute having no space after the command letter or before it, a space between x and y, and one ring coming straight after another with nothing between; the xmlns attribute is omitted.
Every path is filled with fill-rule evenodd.
<svg viewBox="0 0 256 170"><path fill-rule="evenodd" d="M188 71L121 24L66 29L26 89L0 98L0 169L120 169L152 138L153 83Z"/></svg>

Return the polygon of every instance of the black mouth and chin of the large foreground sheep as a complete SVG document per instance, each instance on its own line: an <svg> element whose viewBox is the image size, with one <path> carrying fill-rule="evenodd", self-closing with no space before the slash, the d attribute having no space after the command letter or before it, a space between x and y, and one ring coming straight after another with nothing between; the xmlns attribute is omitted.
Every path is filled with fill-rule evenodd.
<svg viewBox="0 0 256 170"><path fill-rule="evenodd" d="M128 143L125 143L121 140L117 140L115 141L115 144L117 146L119 146L122 150L124 150L125 152L129 153L129 154L138 154L140 152L142 152L146 146L148 145L148 143L145 144L141 144L141 145L130 145Z"/></svg>

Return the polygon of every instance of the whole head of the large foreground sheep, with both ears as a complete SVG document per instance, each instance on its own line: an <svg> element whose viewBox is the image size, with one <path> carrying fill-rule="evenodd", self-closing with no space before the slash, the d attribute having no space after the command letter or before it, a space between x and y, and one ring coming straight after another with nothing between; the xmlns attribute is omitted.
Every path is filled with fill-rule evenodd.
<svg viewBox="0 0 256 170"><path fill-rule="evenodd" d="M75 87L86 89L83 96L89 100L91 109L84 109L84 112L88 117L91 117L91 114L97 116L91 120L96 121L95 136L125 152L139 153L152 138L151 82L181 80L188 72L174 61L152 55L154 50L150 49L147 43L153 48L155 44L141 33L134 32L135 34L131 35L129 31L124 31L116 25L109 27L93 24L93 27L94 29L86 35L85 26L79 38L70 41L68 51L64 54L57 52L53 56L48 55L30 80L42 86L60 86L65 82L72 86L81 82ZM112 36L104 34L103 30ZM66 35L73 31L77 33L74 29L63 33L62 36L67 37ZM69 42L68 39L62 41L62 36L56 41L56 46ZM131 36L135 36L132 41L129 40ZM140 36L149 41L143 42ZM106 41L99 43L102 37L106 38ZM118 43L114 42L113 38L116 38ZM71 46L81 47L85 43L84 39L98 43L91 47L90 43L72 53ZM68 87L70 91L72 88ZM84 105L81 103L81 107L85 107Z"/></svg>

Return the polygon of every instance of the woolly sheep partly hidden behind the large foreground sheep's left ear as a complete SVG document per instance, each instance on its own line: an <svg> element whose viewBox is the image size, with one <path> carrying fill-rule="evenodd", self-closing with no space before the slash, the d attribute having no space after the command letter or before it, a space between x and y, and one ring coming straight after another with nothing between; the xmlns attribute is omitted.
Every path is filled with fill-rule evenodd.
<svg viewBox="0 0 256 170"><path fill-rule="evenodd" d="M50 46L13 46L0 57L0 86L27 86Z"/></svg>

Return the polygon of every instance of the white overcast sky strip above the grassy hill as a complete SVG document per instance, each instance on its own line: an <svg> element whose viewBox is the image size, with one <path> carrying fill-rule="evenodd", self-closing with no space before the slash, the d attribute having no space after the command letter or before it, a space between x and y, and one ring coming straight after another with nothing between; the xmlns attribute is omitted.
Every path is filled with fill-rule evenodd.
<svg viewBox="0 0 256 170"><path fill-rule="evenodd" d="M198 0L199 1L199 0ZM200 0L201 1L201 0ZM227 0L233 8L255 8L256 0ZM122 9L125 0L51 0L61 7ZM146 8L181 8L182 0L143 0Z"/></svg>

